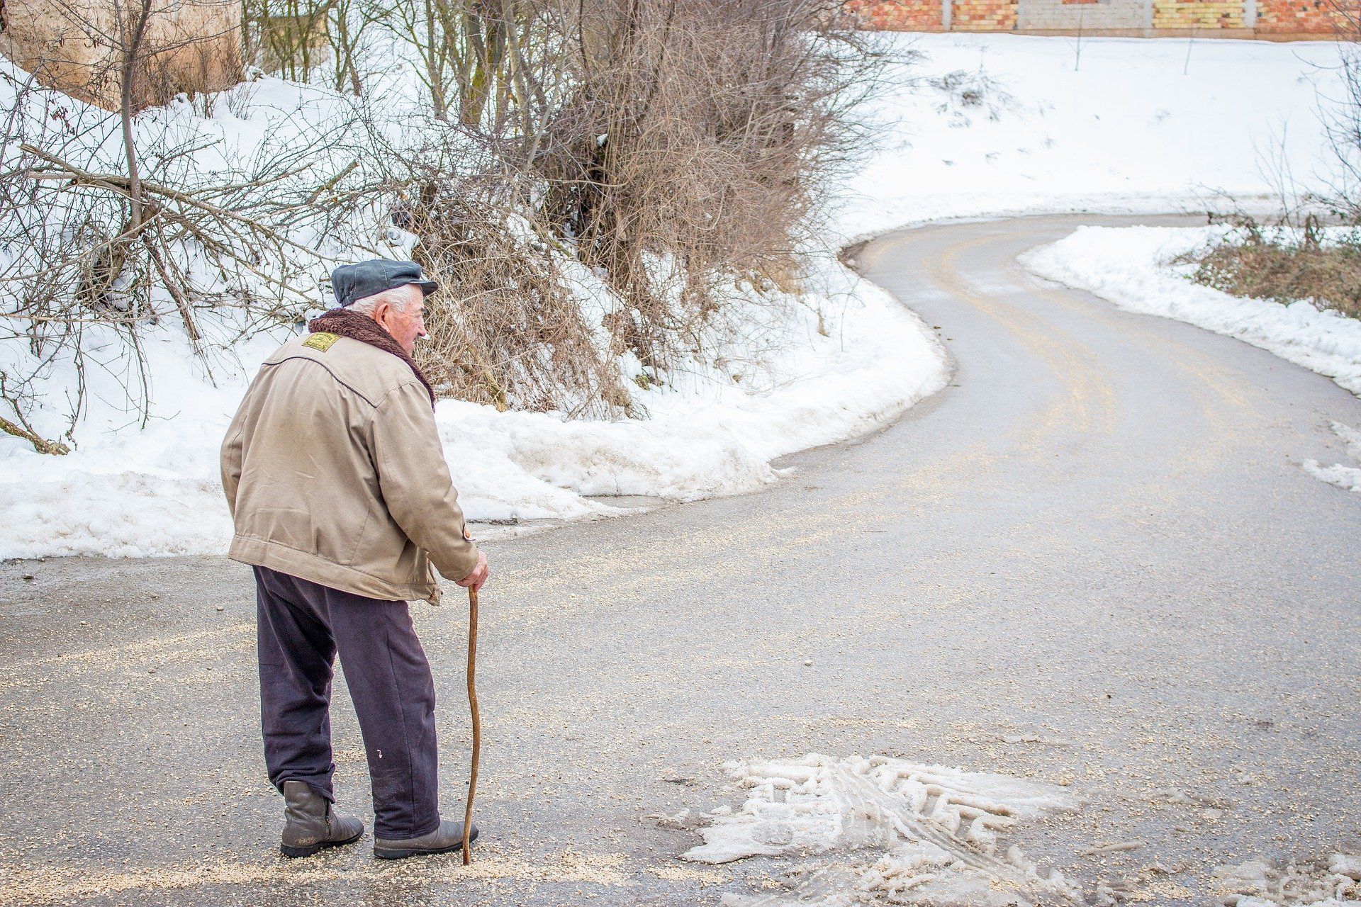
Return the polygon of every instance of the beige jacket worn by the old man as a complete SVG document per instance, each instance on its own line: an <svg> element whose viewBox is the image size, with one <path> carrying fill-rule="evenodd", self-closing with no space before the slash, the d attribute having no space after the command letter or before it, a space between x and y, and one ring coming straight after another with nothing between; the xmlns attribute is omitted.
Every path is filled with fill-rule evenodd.
<svg viewBox="0 0 1361 907"><path fill-rule="evenodd" d="M478 566L430 397L404 362L348 337L286 343L222 445L229 556L370 598L438 602L430 567Z"/></svg>

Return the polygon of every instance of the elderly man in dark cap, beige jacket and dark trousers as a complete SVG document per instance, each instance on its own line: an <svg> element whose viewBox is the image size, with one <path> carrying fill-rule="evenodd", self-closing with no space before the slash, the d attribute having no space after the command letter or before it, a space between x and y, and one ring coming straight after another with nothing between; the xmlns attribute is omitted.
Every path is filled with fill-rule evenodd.
<svg viewBox="0 0 1361 907"><path fill-rule="evenodd" d="M280 849L306 857L363 835L332 809L339 654L369 759L374 855L441 854L461 846L463 823L440 819L434 681L407 601L438 601L431 564L478 589L487 560L463 522L434 392L411 359L438 284L412 261L365 261L338 268L332 287L340 307L265 360L222 446L230 556L255 568Z"/></svg>

